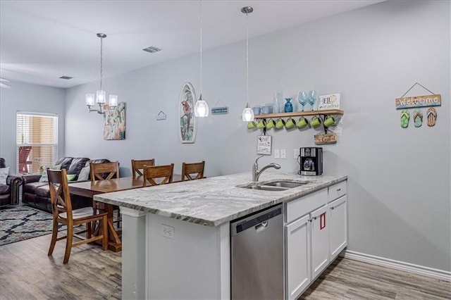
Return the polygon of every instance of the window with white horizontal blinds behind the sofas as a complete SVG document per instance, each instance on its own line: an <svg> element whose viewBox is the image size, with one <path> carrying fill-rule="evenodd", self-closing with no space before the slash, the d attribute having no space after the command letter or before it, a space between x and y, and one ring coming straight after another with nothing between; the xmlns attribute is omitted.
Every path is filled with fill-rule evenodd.
<svg viewBox="0 0 451 300"><path fill-rule="evenodd" d="M41 173L56 161L58 115L17 113L17 173Z"/></svg>

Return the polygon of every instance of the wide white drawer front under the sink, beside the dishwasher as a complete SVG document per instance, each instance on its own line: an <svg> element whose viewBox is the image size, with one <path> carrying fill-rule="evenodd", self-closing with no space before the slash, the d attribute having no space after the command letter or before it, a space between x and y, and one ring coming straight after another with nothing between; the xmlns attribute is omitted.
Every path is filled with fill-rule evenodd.
<svg viewBox="0 0 451 300"><path fill-rule="evenodd" d="M321 191L288 202L285 210L286 223L290 223L292 220L296 220L302 215L306 215L316 208L327 204L327 200L328 189L321 189Z"/></svg>

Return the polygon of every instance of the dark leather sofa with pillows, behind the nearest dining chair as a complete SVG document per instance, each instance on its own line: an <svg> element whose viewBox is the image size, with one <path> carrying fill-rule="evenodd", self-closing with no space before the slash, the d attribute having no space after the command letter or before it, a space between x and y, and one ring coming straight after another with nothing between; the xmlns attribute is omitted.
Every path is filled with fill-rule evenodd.
<svg viewBox="0 0 451 300"><path fill-rule="evenodd" d="M61 169L66 169L68 175L75 175L71 181L74 182L79 181L80 173L85 173L87 170L89 174L89 162L109 163L110 161L105 158L90 160L86 157L63 157L59 158L55 165L61 165ZM51 213L49 182L39 182L41 176L23 175L22 203ZM85 181L90 180L90 177L87 175L87 177L80 179L82 179L80 181ZM71 200L73 209L92 206L92 199L89 198L73 195Z"/></svg>

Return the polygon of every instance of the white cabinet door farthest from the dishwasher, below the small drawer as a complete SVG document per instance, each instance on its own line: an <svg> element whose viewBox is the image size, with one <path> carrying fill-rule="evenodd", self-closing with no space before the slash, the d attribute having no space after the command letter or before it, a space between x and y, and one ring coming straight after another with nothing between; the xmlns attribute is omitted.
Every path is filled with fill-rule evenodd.
<svg viewBox="0 0 451 300"><path fill-rule="evenodd" d="M328 204L330 224L330 259L333 260L347 246L347 196Z"/></svg>

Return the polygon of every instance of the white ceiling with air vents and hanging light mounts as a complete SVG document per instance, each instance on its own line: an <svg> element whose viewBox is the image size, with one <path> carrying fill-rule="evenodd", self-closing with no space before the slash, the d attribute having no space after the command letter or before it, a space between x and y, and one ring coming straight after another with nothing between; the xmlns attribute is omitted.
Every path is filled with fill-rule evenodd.
<svg viewBox="0 0 451 300"><path fill-rule="evenodd" d="M249 14L249 37L256 37L378 2L204 0L203 49L246 38L242 6L254 8ZM1 0L0 76L62 88L99 80L98 32L107 35L104 77L199 53L199 4L199 0ZM148 46L162 50L142 51Z"/></svg>

